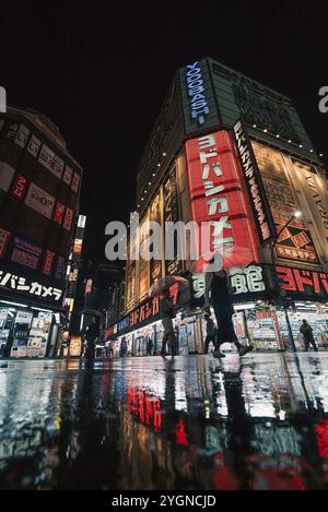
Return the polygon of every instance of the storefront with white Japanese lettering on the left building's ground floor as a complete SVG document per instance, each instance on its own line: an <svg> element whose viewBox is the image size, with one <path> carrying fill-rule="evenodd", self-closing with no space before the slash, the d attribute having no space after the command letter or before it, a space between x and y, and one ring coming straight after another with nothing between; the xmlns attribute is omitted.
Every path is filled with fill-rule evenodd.
<svg viewBox="0 0 328 512"><path fill-rule="evenodd" d="M1 263L0 358L57 356L65 320L59 286L59 279Z"/></svg>

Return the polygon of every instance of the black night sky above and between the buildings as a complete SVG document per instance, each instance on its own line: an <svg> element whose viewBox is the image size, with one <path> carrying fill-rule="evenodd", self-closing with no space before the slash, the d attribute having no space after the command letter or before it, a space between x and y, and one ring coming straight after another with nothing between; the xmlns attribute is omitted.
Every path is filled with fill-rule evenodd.
<svg viewBox="0 0 328 512"><path fill-rule="evenodd" d="M306 4L306 5L305 5ZM0 0L0 85L46 114L84 168L85 257L134 206L141 157L177 68L202 57L290 96L328 154L328 2ZM326 155L327 156L327 155Z"/></svg>

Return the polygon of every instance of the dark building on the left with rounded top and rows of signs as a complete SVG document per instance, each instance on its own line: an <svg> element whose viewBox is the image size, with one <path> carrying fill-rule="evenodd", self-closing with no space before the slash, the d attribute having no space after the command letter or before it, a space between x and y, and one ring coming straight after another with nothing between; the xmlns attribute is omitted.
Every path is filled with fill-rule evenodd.
<svg viewBox="0 0 328 512"><path fill-rule="evenodd" d="M34 110L0 115L0 354L55 355L82 169Z"/></svg>

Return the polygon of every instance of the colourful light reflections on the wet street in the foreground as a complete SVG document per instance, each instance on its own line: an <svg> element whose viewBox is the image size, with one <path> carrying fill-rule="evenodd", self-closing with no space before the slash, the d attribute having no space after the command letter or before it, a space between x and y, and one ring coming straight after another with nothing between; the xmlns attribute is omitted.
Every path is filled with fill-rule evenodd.
<svg viewBox="0 0 328 512"><path fill-rule="evenodd" d="M0 361L0 488L328 488L328 355L169 359Z"/></svg>

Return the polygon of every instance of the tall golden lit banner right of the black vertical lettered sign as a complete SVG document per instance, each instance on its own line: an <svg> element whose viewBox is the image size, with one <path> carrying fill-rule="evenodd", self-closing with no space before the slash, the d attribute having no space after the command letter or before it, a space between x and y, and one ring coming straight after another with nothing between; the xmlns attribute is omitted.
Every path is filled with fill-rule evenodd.
<svg viewBox="0 0 328 512"><path fill-rule="evenodd" d="M283 154L258 142L253 142L253 148L279 233L293 213L302 207L289 180ZM274 250L279 259L319 263L308 226L302 216L294 218L280 234Z"/></svg>

